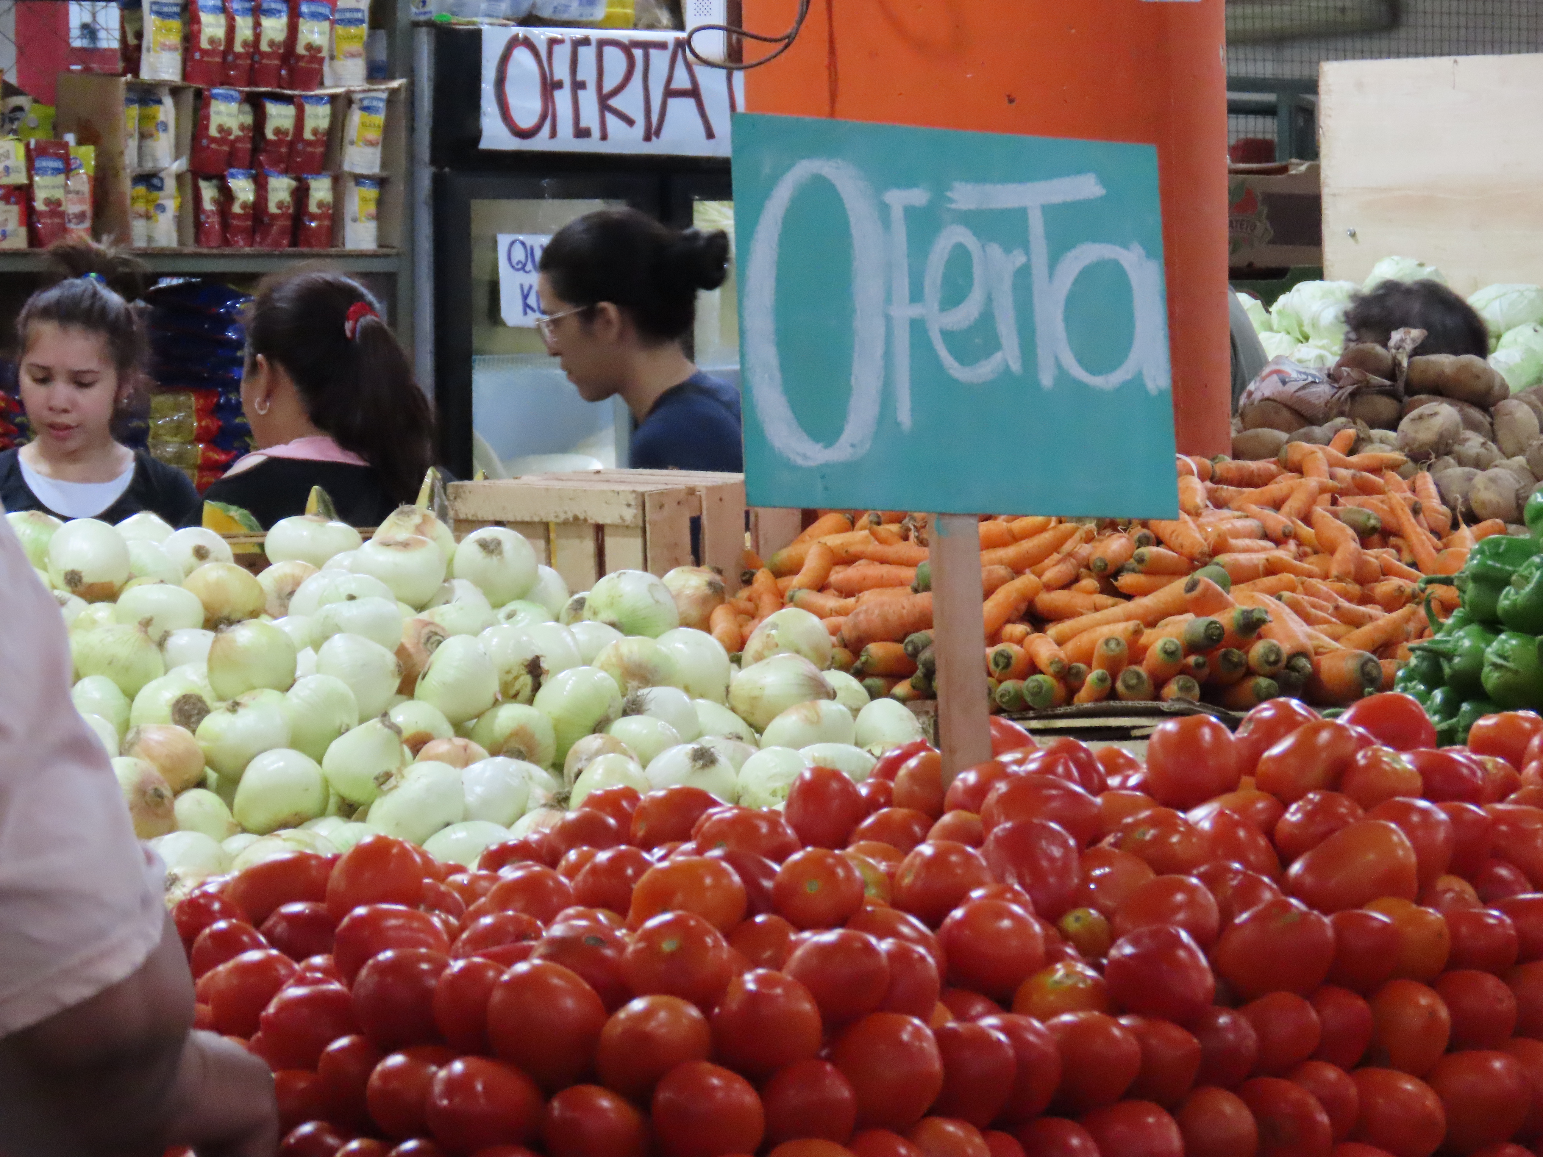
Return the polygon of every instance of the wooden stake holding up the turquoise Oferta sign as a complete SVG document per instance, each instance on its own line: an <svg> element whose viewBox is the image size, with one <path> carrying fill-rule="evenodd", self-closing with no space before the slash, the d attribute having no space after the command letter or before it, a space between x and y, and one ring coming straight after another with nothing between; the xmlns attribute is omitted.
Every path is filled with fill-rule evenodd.
<svg viewBox="0 0 1543 1157"><path fill-rule="evenodd" d="M932 653L938 660L938 747L947 785L966 767L991 759L980 520L974 514L938 514L932 529Z"/></svg>

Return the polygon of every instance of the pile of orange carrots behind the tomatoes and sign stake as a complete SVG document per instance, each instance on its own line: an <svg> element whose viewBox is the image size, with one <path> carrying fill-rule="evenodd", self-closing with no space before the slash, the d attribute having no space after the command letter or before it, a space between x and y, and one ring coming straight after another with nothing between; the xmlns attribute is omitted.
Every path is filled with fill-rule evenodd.
<svg viewBox="0 0 1543 1157"><path fill-rule="evenodd" d="M1176 520L984 517L981 599L994 702L1008 711L1100 699L1276 694L1319 705L1392 685L1429 634L1415 583L1455 574L1475 541L1401 454L1288 443L1279 461L1180 455ZM1409 477L1406 477L1409 475ZM765 616L819 616L836 665L870 694L930 694L927 517L826 511L713 614L739 651ZM1455 591L1435 588L1446 617Z"/></svg>

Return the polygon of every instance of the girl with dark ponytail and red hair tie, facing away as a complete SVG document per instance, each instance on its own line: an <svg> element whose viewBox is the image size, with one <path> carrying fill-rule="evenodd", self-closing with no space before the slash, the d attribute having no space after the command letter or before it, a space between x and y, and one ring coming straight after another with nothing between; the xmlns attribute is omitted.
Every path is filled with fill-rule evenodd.
<svg viewBox="0 0 1543 1157"><path fill-rule="evenodd" d="M258 450L208 487L264 528L321 486L338 517L378 526L417 498L434 410L363 285L309 270L267 281L247 316L241 404Z"/></svg>

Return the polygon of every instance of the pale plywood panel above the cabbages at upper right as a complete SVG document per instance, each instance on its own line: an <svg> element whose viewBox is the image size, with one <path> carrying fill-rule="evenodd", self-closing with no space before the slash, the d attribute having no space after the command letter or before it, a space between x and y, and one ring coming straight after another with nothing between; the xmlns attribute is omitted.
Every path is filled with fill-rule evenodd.
<svg viewBox="0 0 1543 1157"><path fill-rule="evenodd" d="M1543 281L1543 54L1325 63L1319 137L1327 278Z"/></svg>

